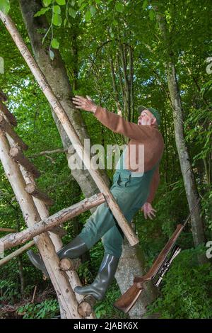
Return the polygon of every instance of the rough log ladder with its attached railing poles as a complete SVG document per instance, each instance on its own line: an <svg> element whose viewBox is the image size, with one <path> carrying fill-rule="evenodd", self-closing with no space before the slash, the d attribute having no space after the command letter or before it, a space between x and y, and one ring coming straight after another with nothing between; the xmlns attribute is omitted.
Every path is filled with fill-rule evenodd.
<svg viewBox="0 0 212 333"><path fill-rule="evenodd" d="M139 239L124 218L119 205L117 205L110 189L102 179L100 172L95 169L92 159L90 160L89 154L83 148L64 108L61 106L61 103L59 103L59 100L54 95L47 80L37 66L37 63L18 33L13 21L1 11L0 18L8 32L11 33L14 42L27 62L37 83L40 85L50 106L52 106L54 112L57 114L61 125L71 140L73 148L76 149L76 152L82 153L83 163L100 190L100 193L97 195L87 198L69 208L64 208L49 217L49 210L47 207L53 204L52 199L37 188L35 179L40 176L40 171L38 171L35 165L24 156L23 150L28 149L28 146L25 145L23 140L21 140L13 130L13 127L17 125L16 118L10 111L8 111L8 108L4 104L4 100L1 98L0 159L28 228L22 232L13 233L1 238L0 247L8 249L17 246L18 244L23 244L30 239L34 239L30 244L25 244L22 249L27 249L35 242L45 263L54 289L56 290L61 317L93 318L94 314L92 307L95 303L94 298L90 295L83 297L83 295L73 293L73 288L75 288L75 286L81 286L81 282L75 271L77 263L73 260L67 261L67 259L59 261L57 256L57 250L62 247L61 238L57 235L57 233L61 231L59 225L96 205L100 205L100 203L107 202L114 218L117 220L119 227L121 227L131 246L138 244ZM79 156L81 155L79 154ZM4 264L11 259L11 257L20 254L20 252L21 249L16 250L12 255L8 256L8 258L1 259L0 264Z"/></svg>

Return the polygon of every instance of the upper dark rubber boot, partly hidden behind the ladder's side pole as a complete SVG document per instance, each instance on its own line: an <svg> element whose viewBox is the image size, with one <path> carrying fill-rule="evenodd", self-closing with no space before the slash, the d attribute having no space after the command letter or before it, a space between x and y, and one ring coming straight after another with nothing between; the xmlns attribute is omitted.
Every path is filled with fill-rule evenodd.
<svg viewBox="0 0 212 333"><path fill-rule="evenodd" d="M77 236L76 238L71 240L69 244L60 249L57 252L57 255L59 256L59 259L63 258L76 259L87 251L88 247L86 246L86 243L83 242L83 239ZM33 252L33 250L29 250L27 254L31 263L35 267L37 267L37 269L40 269L47 278L49 278L49 274L47 272L47 269L40 254L36 254L35 252Z"/></svg>

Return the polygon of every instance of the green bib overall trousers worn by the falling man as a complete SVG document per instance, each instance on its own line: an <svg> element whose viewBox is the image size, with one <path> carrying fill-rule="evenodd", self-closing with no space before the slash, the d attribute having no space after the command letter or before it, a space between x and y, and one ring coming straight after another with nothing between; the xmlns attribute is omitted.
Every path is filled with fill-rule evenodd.
<svg viewBox="0 0 212 333"><path fill-rule="evenodd" d="M116 169L113 175L113 184L110 191L126 220L131 222L136 212L146 203L151 179L158 162L153 166L153 169L144 172L142 176L135 176L136 173L123 168L124 152L118 162L119 168ZM122 255L124 233L117 224L117 220L112 215L107 203L99 205L95 212L90 215L78 236L83 239L88 249L93 247L101 238L105 253L112 254L117 258Z"/></svg>

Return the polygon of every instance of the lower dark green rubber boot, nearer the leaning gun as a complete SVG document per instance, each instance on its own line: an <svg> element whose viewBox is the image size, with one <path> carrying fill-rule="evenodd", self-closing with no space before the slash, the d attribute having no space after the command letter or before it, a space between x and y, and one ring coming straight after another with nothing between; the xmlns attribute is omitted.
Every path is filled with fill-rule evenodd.
<svg viewBox="0 0 212 333"><path fill-rule="evenodd" d="M105 293L112 283L117 266L119 264L119 258L112 256L112 254L105 254L98 275L90 286L74 288L74 291L80 295L93 295L96 300L102 300Z"/></svg>

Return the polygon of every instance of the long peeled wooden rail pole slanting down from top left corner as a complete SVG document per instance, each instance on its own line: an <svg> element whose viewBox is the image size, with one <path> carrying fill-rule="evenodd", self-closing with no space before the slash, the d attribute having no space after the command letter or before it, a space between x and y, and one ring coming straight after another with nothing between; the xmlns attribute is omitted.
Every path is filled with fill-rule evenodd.
<svg viewBox="0 0 212 333"><path fill-rule="evenodd" d="M54 95L51 87L47 83L45 76L42 74L40 68L37 66L37 63L35 62L33 56L30 54L28 47L25 45L23 38L20 36L20 33L18 32L13 21L8 15L2 13L2 11L0 11L0 18L1 21L4 23L4 26L6 26L8 32L11 34L11 37L16 43L18 50L20 50L21 55L23 56L25 62L28 64L28 67L30 68L35 79L37 80L37 83L40 85L40 88L42 89L47 100L49 101L50 106L52 106L52 109L57 114L57 117L59 118L61 125L64 127L66 134L71 140L73 147L76 149L76 152L80 157L83 156L83 162L86 165L86 168L90 172L90 175L93 177L95 184L97 184L98 188L100 189L100 192L104 193L106 201L110 209L112 210L114 218L117 220L119 227L121 227L122 231L124 232L126 239L128 239L129 243L132 246L139 243L139 239L136 237L134 230L131 229L129 223L124 218L124 215L122 214L119 205L112 196L112 193L110 193L110 190L105 184L105 181L102 179L100 172L95 169L93 159L90 160L90 155L88 154L88 152L86 152L86 149L84 149L83 145L81 144L81 141L79 140L79 137L74 130L73 125L69 121L69 118L66 115L64 108L61 106L61 103L59 103L59 100Z"/></svg>

